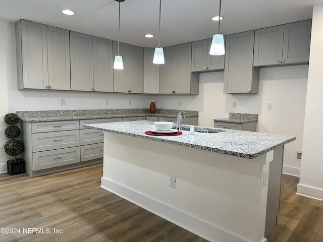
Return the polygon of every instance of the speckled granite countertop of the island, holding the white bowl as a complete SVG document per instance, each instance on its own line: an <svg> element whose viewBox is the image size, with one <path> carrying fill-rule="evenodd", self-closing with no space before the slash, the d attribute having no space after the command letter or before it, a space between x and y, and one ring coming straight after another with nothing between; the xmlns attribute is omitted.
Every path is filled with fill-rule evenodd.
<svg viewBox="0 0 323 242"><path fill-rule="evenodd" d="M249 131L223 130L194 126L195 130L221 131L219 133L197 133L190 135L189 131L182 131L178 136L150 136L145 131L154 129L151 121L131 121L122 123L84 125L91 129L109 133L133 136L141 139L165 142L195 149L253 159L268 151L292 142L293 136L265 134ZM183 125L184 128L190 126Z"/></svg>

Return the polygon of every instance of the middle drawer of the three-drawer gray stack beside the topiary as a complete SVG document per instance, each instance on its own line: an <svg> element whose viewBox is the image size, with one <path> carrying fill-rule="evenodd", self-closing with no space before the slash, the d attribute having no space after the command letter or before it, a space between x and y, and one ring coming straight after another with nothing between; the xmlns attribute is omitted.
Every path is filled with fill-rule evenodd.
<svg viewBox="0 0 323 242"><path fill-rule="evenodd" d="M80 145L78 130L32 134L32 151L55 150Z"/></svg>

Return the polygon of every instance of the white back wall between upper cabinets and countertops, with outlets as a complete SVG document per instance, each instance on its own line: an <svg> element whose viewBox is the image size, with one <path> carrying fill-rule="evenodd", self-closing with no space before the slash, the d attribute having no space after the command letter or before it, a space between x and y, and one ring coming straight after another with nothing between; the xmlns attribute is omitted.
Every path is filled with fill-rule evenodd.
<svg viewBox="0 0 323 242"><path fill-rule="evenodd" d="M286 145L284 170L299 175L300 163L295 162L295 150L302 150L304 107L308 66L275 67L260 70L258 94L224 94L224 72L200 74L199 95L117 94L47 90L18 90L14 24L0 21L1 113L0 146L6 138L3 116L17 110L148 108L156 101L157 108L199 111L199 125L213 126L213 118L228 117L229 112L258 113L258 131L295 135L296 141ZM60 105L65 99L65 106ZM105 100L109 99L109 106ZM129 105L131 100L132 105ZM181 101L181 106L179 105ZM237 101L237 108L232 108ZM273 110L267 110L273 102ZM0 151L0 172L6 172L7 158ZM289 167L292 167L291 169Z"/></svg>

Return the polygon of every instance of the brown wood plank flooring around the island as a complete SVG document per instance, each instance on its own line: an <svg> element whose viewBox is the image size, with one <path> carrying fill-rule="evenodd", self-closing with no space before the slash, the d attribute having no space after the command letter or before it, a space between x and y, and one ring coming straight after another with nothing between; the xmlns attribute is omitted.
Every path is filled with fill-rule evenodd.
<svg viewBox="0 0 323 242"><path fill-rule="evenodd" d="M35 178L0 174L0 228L21 229L0 233L0 241L207 241L101 189L101 176L102 164ZM296 195L298 182L283 175L281 213L268 242L323 241L323 203Z"/></svg>

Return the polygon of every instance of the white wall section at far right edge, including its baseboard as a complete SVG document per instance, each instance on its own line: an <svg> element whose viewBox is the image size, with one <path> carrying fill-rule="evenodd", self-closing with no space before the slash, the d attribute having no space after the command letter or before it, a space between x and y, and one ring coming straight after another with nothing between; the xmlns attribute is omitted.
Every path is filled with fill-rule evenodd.
<svg viewBox="0 0 323 242"><path fill-rule="evenodd" d="M304 123L303 157L297 192L323 199L323 5L313 8L311 49Z"/></svg>

